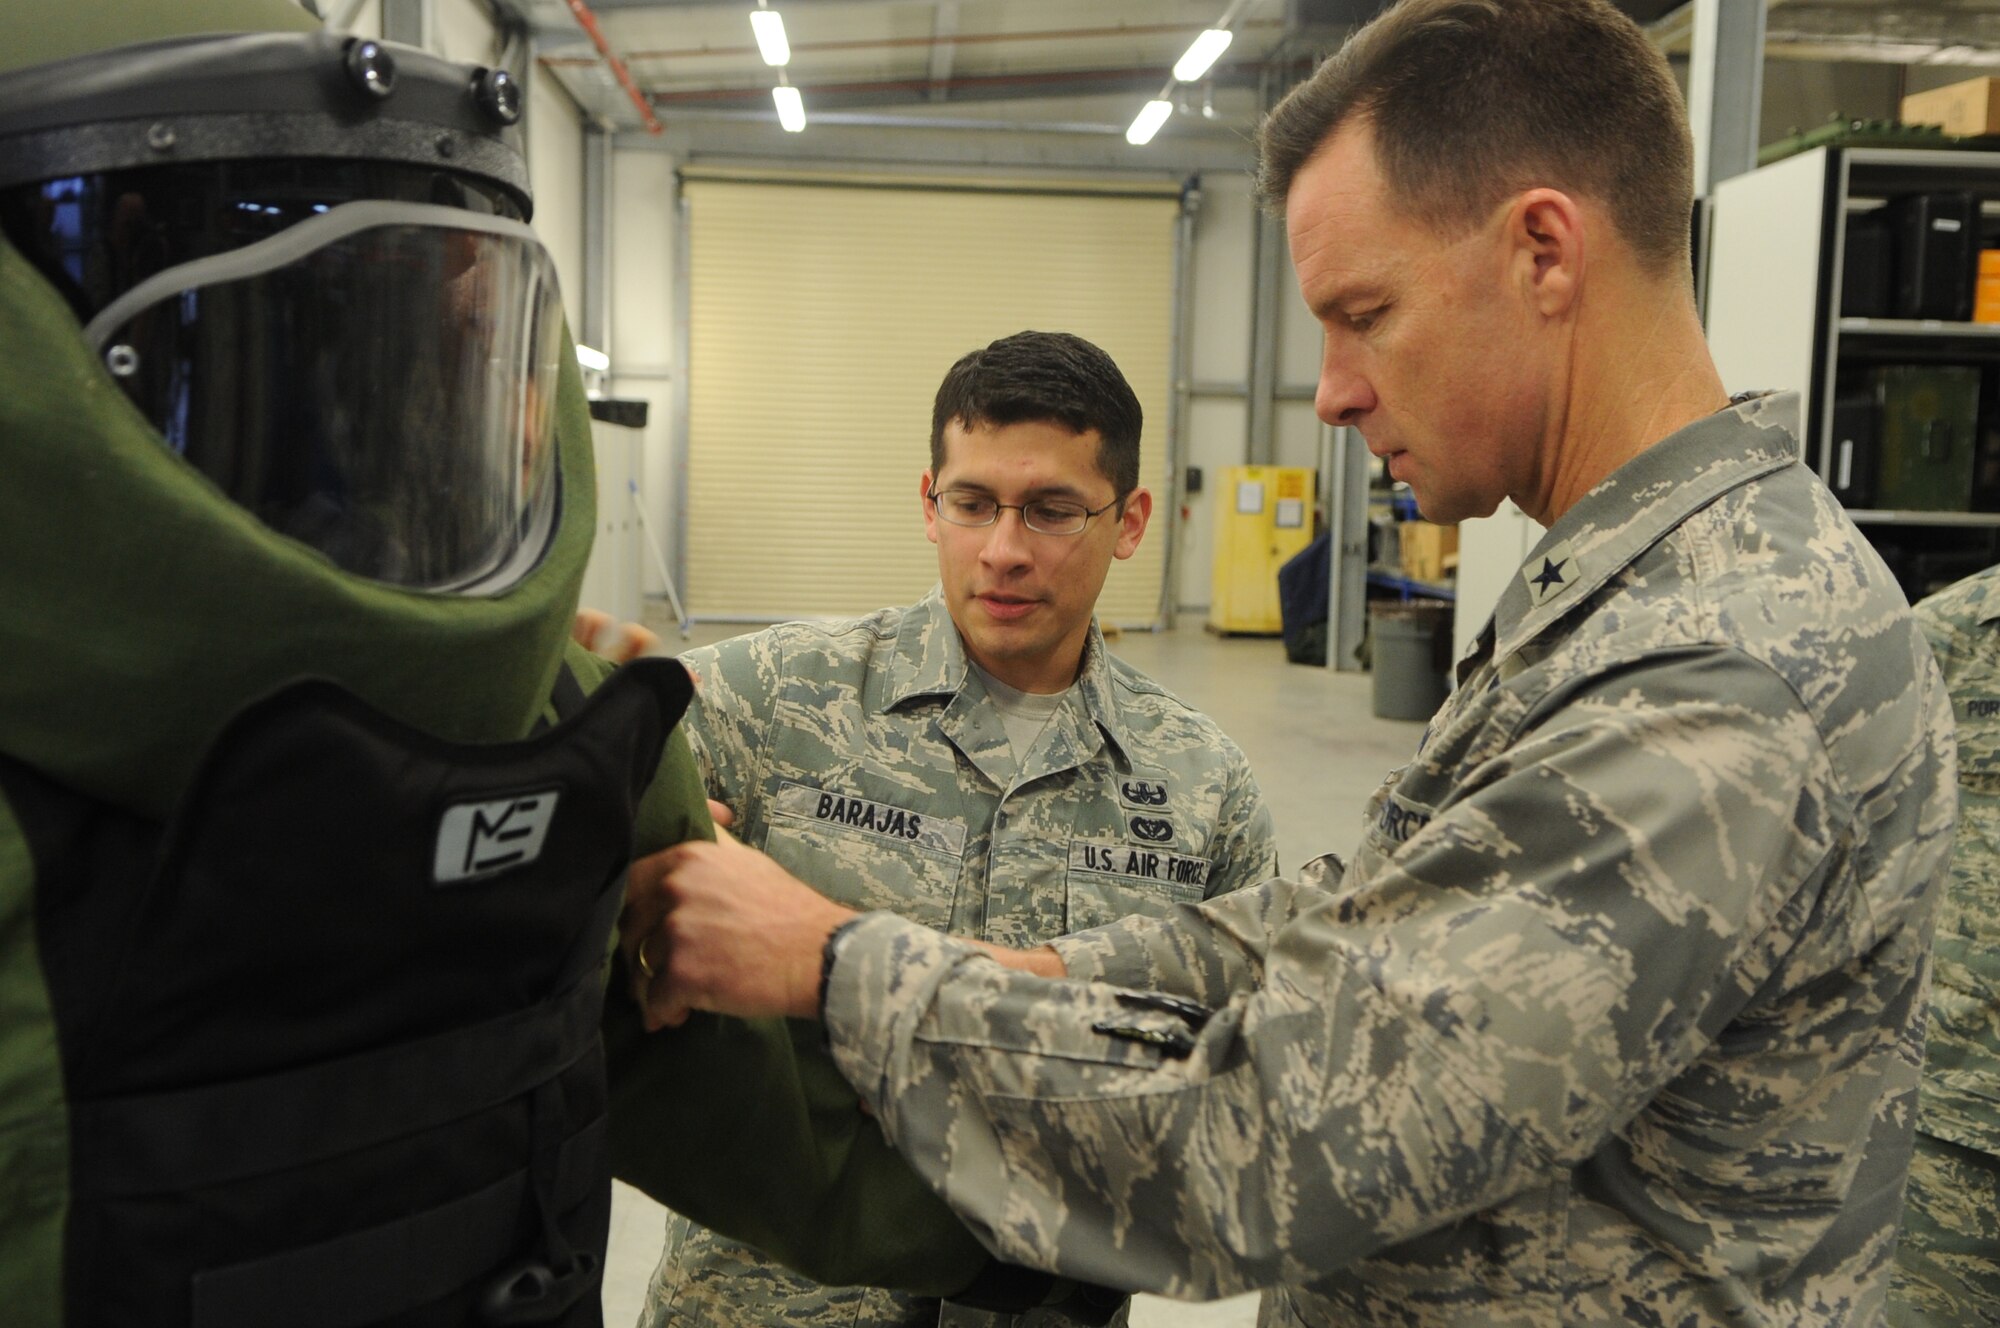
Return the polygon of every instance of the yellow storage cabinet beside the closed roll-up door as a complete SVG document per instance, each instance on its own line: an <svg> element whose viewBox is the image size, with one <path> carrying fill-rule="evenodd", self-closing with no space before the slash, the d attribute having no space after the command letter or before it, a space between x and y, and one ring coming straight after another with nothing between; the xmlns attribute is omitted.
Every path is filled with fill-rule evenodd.
<svg viewBox="0 0 2000 1328"><path fill-rule="evenodd" d="M1216 570L1208 626L1276 636L1278 568L1312 542L1308 466L1230 466L1216 488Z"/></svg>

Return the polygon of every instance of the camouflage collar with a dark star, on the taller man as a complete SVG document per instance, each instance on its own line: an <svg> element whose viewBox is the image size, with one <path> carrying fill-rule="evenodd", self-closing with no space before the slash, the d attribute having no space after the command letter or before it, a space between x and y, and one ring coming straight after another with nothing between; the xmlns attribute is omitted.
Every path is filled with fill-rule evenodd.
<svg viewBox="0 0 2000 1328"><path fill-rule="evenodd" d="M1754 396L1668 434L1614 470L1542 534L1500 594L1482 642L1494 640L1494 658L1506 660L1688 516L1732 488L1798 464L1796 420L1796 392Z"/></svg>

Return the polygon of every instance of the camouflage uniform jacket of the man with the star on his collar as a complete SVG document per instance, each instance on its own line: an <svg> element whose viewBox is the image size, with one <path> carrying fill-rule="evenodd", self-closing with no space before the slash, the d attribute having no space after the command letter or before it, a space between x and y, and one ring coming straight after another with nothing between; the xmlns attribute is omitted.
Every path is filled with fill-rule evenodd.
<svg viewBox="0 0 2000 1328"><path fill-rule="evenodd" d="M854 922L896 1148L1002 1258L1268 1322L1878 1322L1952 718L1790 418L1546 532L1346 874L1056 942L1098 982Z"/></svg>

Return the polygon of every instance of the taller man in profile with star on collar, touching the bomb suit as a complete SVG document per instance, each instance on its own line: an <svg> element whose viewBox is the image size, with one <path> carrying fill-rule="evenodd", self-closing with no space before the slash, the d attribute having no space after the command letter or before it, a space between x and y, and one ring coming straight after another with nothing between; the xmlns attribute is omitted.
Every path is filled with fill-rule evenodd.
<svg viewBox="0 0 2000 1328"><path fill-rule="evenodd" d="M1796 398L1708 358L1672 74L1602 0L1404 0L1260 156L1320 418L1432 520L1548 528L1354 864L988 956L672 848L654 1018L818 978L898 1152L1068 1276L1276 1324L1880 1322L1950 700Z"/></svg>

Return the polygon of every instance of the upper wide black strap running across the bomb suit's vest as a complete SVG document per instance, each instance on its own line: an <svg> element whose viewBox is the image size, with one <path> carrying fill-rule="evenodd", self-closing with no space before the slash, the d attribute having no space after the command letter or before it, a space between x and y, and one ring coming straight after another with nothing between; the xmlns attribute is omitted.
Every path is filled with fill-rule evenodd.
<svg viewBox="0 0 2000 1328"><path fill-rule="evenodd" d="M294 1170L518 1098L598 1036L602 984L486 1024L254 1080L72 1108L100 1194L176 1194Z"/></svg>

